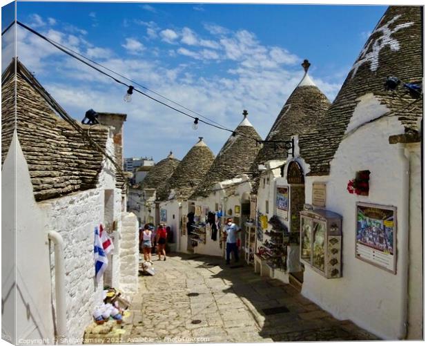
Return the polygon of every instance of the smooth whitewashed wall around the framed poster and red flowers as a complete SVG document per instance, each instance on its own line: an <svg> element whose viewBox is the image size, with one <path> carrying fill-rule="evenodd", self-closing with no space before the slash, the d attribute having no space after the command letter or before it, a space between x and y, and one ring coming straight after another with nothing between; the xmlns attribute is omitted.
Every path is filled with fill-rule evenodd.
<svg viewBox="0 0 428 346"><path fill-rule="evenodd" d="M375 107L373 99L364 102ZM364 106L364 104L362 104ZM381 106L378 106L381 107ZM364 108L364 107L362 107ZM361 110L356 109L356 114ZM377 115L384 110L374 108ZM368 117L364 116L364 121ZM351 122L353 128L358 121ZM391 130L392 129L392 130ZM402 162L397 146L389 144L389 135L402 130L397 119L389 118L360 128L342 141L331 162L331 175L327 184L327 208L342 215L343 277L329 279L320 276L306 266L302 294L339 319L353 320L357 325L385 339L396 339L400 334L400 289L403 272L397 274L355 258L356 202L371 202L396 206L398 215L398 253L402 253L403 217ZM396 133L391 133L391 131ZM347 183L356 171L369 169L369 196L351 195ZM325 178L307 177L306 202L311 203L312 183Z"/></svg>

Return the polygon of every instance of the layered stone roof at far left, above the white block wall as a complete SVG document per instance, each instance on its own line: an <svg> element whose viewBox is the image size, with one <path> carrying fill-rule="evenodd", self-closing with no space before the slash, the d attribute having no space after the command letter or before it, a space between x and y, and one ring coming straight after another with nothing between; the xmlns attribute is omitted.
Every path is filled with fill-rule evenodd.
<svg viewBox="0 0 428 346"><path fill-rule="evenodd" d="M88 145L79 131L58 117L57 113L65 110L18 59L16 70L13 59L4 71L1 92L1 162L6 159L16 129L35 200L95 189L103 155ZM106 126L92 126L90 136L101 148L106 148Z"/></svg>

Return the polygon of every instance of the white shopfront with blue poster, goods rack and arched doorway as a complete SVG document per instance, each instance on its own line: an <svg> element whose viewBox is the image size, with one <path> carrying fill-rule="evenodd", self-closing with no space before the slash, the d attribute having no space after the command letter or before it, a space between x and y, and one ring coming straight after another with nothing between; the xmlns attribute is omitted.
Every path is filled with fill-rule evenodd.
<svg viewBox="0 0 428 346"><path fill-rule="evenodd" d="M298 160L266 162L257 195L255 272L289 282L302 280L299 259L300 211L304 176ZM295 278L297 277L297 278Z"/></svg>

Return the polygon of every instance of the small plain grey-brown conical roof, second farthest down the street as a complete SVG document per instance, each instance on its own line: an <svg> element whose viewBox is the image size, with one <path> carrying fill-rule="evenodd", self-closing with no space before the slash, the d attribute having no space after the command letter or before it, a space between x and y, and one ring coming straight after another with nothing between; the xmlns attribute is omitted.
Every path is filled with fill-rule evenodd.
<svg viewBox="0 0 428 346"><path fill-rule="evenodd" d="M172 190L175 191L175 198L189 198L213 164L214 158L213 152L200 137L199 142L184 156L166 184L159 189L158 198L166 200Z"/></svg>

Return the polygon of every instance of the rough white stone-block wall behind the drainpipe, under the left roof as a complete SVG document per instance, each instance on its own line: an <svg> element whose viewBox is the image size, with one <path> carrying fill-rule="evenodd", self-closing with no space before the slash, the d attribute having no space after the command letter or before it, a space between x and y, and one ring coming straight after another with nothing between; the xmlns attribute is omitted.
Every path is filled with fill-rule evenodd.
<svg viewBox="0 0 428 346"><path fill-rule="evenodd" d="M103 280L95 282L94 227L104 222L104 191L91 189L40 202L39 206L46 212L46 229L57 231L64 239L68 338L82 338L93 320L93 308L102 300ZM50 265L53 289L53 244Z"/></svg>

